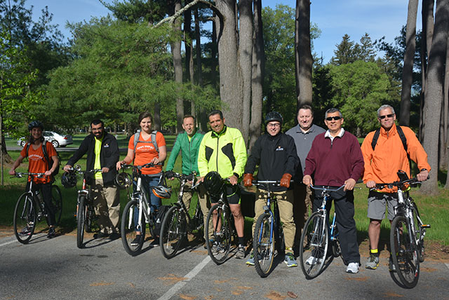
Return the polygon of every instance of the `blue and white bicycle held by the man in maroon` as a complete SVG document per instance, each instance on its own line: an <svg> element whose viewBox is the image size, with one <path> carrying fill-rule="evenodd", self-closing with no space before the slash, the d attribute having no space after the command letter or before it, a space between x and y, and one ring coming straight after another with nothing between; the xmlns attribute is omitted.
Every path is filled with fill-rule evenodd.
<svg viewBox="0 0 449 300"><path fill-rule="evenodd" d="M321 203L321 207L316 212L311 214L304 224L304 229L302 229L300 264L302 273L304 273L307 279L316 278L323 270L324 262L329 256L329 243L331 244L333 257L339 257L342 254L338 239L338 229L335 224L336 213L334 212L332 225L329 226L326 204L330 200L330 193L340 191L340 189L344 188L344 185L337 189L330 189L329 187L319 188L313 185L310 185L310 188L315 191L321 191L323 203Z"/></svg>

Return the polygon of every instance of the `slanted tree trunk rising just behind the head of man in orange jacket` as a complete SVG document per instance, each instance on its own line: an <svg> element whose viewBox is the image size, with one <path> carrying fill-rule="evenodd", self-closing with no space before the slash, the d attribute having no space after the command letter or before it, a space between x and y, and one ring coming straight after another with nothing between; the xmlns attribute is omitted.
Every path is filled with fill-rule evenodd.
<svg viewBox="0 0 449 300"><path fill-rule="evenodd" d="M402 70L401 111L399 124L410 125L410 97L413 81L413 60L415 59L416 43L416 16L418 0L408 1L406 53L404 54L404 67Z"/></svg>

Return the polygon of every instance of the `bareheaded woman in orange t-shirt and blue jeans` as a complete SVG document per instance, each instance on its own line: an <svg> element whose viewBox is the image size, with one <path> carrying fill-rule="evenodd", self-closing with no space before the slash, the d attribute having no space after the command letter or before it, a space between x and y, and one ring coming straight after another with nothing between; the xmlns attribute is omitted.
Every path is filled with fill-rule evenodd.
<svg viewBox="0 0 449 300"><path fill-rule="evenodd" d="M130 164L133 161L134 165L145 165L145 163L163 163L163 161L166 160L166 140L161 132L156 132L156 144L159 148L159 153L152 144L152 121L153 117L148 111L144 111L139 115L139 142L135 146L134 152L135 135L130 137L128 142L128 154L126 154L123 161L117 163L117 170L121 169L122 164ZM161 207L161 198L156 197L156 195L151 192L152 186L157 186L157 184L159 184L161 172L162 165L158 165L154 168L142 168L142 188L149 196L153 212L159 210L159 207ZM138 221L138 219L136 219L136 217L138 217L137 211L138 210L134 211L135 223ZM136 239L140 238L139 233L137 234L138 237L136 237Z"/></svg>

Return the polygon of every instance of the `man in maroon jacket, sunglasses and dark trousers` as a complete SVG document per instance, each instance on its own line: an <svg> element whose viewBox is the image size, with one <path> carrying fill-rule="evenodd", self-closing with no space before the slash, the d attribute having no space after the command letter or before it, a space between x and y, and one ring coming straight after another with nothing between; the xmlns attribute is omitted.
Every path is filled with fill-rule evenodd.
<svg viewBox="0 0 449 300"><path fill-rule="evenodd" d="M317 135L306 158L306 168L302 182L318 187L330 186L344 189L330 193L335 200L337 229L340 234L342 256L348 264L347 273L358 273L360 253L358 252L356 221L354 221L354 193L357 180L363 175L363 156L358 140L344 131L343 116L340 110L326 111L325 121L328 130ZM313 211L321 206L323 199L316 193ZM329 201L326 210L330 210ZM313 258L312 258L313 259ZM307 264L307 262L306 262Z"/></svg>

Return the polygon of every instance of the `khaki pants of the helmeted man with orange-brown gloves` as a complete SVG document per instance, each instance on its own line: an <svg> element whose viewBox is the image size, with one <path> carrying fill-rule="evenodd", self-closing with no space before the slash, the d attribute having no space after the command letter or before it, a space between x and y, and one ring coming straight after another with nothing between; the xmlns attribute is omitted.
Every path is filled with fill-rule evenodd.
<svg viewBox="0 0 449 300"><path fill-rule="evenodd" d="M279 217L282 222L283 237L286 243L286 253L293 253L293 241L295 239L295 222L293 221L293 190L272 192L276 197L279 206ZM264 206L267 205L267 193L264 190L257 189L255 193L253 221L253 238L257 218L264 213Z"/></svg>

